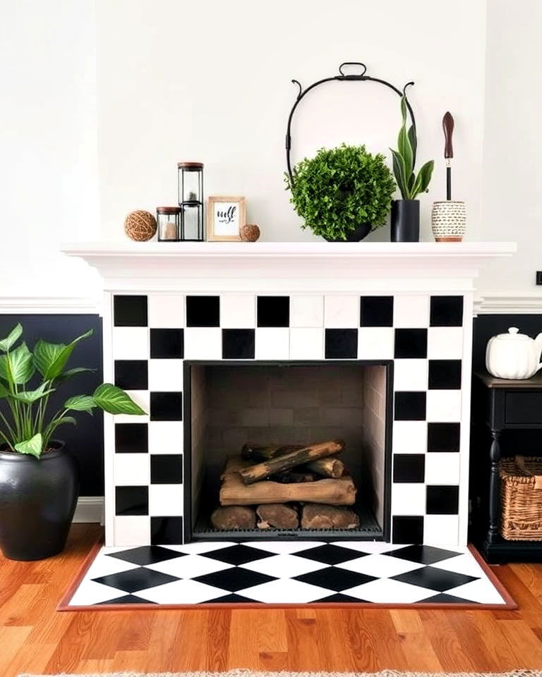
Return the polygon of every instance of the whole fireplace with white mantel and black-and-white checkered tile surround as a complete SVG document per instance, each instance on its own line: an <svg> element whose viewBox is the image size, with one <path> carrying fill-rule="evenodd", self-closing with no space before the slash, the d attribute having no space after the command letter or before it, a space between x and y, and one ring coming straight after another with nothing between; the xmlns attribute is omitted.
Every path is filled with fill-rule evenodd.
<svg viewBox="0 0 542 677"><path fill-rule="evenodd" d="M147 412L104 417L107 546L218 537L205 509L217 504L228 454L245 441L335 437L347 439L346 465L363 503L357 509L366 511L350 539L465 545L474 279L514 249L471 242L66 248L102 276L104 380ZM215 401L217 384L230 378L235 387L224 386L222 403ZM327 413L320 400L303 404L303 392L325 395L320 386L301 389L303 379L343 382L353 399ZM237 386L254 394L250 407L231 414L224 398ZM291 405L278 406L277 391L289 393ZM361 423L347 425L347 405ZM311 538L297 533L272 538Z"/></svg>

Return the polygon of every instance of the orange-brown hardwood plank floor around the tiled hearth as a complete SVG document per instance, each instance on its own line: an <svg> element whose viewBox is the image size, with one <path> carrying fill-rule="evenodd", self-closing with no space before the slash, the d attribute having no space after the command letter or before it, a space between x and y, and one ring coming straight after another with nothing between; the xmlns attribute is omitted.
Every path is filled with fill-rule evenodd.
<svg viewBox="0 0 542 677"><path fill-rule="evenodd" d="M542 565L496 568L518 611L266 609L55 611L95 541L0 558L0 675L113 671L542 669Z"/></svg>

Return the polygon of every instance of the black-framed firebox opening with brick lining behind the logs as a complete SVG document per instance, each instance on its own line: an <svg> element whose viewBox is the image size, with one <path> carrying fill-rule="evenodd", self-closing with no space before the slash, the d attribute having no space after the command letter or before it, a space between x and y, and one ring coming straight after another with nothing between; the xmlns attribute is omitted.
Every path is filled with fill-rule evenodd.
<svg viewBox="0 0 542 677"><path fill-rule="evenodd" d="M270 537L389 539L391 362L198 360L186 361L184 368L185 542ZM324 497L318 505L325 505L327 492L339 484L326 482L317 486L320 475L314 474L307 465L272 475L271 480L275 482L272 486L270 480L263 480L268 482L265 486L262 482L251 484L250 492L255 492L251 494L246 493L237 472L234 475L230 472L229 476L229 484L231 478L235 478L233 494L231 486L224 484L225 468L231 470L239 464L258 462L240 458L245 445L250 448L306 446L335 439L344 440L346 444L344 451L333 456L344 463L345 472L343 477L331 482L341 482L341 487L353 482L356 489L355 504L339 507L341 512L355 513L355 519L346 520L348 527L336 527L333 523L332 527L327 524L322 528L323 518L319 514L316 520L309 520L309 513L303 507L309 503L297 500L296 496L315 490ZM246 456L247 452L243 453ZM303 475L303 480L312 478L312 482L294 483L295 486L282 484L292 481L292 473L296 479ZM286 486L289 488L284 489ZM279 492L276 503L294 508L299 523L277 527L258 516L260 502L265 504L270 500L268 495L266 501L261 500L262 489ZM285 500L284 491L294 499ZM256 523L218 528L213 524L212 513L219 508L221 498L231 506L237 503L237 496L240 496L239 504L250 508L241 510L243 518L245 513L255 511ZM246 502L252 500L253 503ZM335 507L338 506L331 510L323 508L323 511L332 513L335 519L338 514ZM319 508L311 507L313 518L318 511ZM344 513L338 516L338 521L343 518ZM216 523L216 518L214 521Z"/></svg>

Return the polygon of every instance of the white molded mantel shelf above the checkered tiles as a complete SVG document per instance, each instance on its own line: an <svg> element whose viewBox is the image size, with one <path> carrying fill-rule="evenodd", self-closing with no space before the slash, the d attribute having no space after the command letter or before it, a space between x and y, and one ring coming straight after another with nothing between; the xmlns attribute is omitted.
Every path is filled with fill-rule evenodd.
<svg viewBox="0 0 542 677"><path fill-rule="evenodd" d="M472 291L481 267L516 251L510 242L462 243L72 243L62 250L83 258L106 291L207 291L217 279L227 291L267 288L375 291L401 279L404 291ZM356 283L359 281L359 283ZM396 282L397 283L397 282Z"/></svg>

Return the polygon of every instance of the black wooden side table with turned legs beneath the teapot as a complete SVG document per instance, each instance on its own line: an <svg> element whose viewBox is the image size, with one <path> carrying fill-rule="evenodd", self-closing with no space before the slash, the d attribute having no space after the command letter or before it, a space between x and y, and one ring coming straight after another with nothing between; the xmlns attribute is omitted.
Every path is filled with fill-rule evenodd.
<svg viewBox="0 0 542 677"><path fill-rule="evenodd" d="M507 541L499 533L501 453L522 453L501 449L501 434L506 429L542 429L542 375L510 381L476 372L472 404L471 539L489 563L542 561L542 541Z"/></svg>

